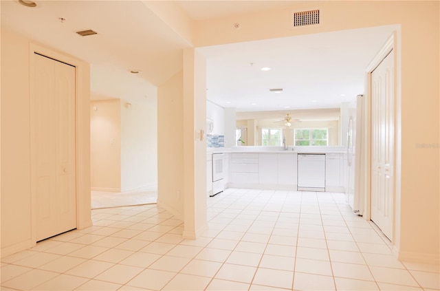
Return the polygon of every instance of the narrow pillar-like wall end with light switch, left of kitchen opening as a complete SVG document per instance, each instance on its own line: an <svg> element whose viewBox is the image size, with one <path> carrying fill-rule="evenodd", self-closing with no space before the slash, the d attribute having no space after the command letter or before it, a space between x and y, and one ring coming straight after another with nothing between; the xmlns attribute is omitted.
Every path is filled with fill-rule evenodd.
<svg viewBox="0 0 440 291"><path fill-rule="evenodd" d="M184 238L208 228L206 195L206 60L184 50ZM195 134L194 134L195 133Z"/></svg>

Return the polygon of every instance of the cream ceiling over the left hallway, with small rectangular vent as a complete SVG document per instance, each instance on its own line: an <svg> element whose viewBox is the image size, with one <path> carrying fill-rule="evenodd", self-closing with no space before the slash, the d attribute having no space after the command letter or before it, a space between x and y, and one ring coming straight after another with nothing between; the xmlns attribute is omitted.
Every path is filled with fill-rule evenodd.
<svg viewBox="0 0 440 291"><path fill-rule="evenodd" d="M1 0L2 27L90 63L92 98L144 102L156 94L155 85L181 70L188 43L142 1L35 2L36 8L28 8ZM98 34L76 34L88 29Z"/></svg>

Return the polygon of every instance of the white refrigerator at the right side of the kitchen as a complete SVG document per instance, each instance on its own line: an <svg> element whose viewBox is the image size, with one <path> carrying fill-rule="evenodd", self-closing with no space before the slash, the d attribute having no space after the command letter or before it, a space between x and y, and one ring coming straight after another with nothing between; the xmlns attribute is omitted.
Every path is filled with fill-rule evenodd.
<svg viewBox="0 0 440 291"><path fill-rule="evenodd" d="M347 202L358 215L364 214L364 195L360 191L361 175L361 145L364 129L364 103L363 95L356 96L355 102L349 107L349 125L347 129L347 175L346 198Z"/></svg>

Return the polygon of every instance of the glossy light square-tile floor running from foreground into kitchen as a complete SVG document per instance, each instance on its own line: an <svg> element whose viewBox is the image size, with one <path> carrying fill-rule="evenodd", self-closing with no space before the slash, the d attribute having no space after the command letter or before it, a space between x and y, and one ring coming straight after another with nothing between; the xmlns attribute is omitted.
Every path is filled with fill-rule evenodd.
<svg viewBox="0 0 440 291"><path fill-rule="evenodd" d="M156 205L92 211L94 226L1 259L1 290L439 290L439 266L398 261L342 193L230 188L207 230Z"/></svg>

